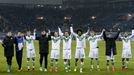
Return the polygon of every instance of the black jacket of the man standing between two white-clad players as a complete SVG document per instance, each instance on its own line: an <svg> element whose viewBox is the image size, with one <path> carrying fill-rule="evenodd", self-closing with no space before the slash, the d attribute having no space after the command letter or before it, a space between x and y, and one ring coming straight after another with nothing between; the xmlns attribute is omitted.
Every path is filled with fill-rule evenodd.
<svg viewBox="0 0 134 75"><path fill-rule="evenodd" d="M51 36L37 36L36 40L39 40L39 53L49 53L49 41L51 40Z"/></svg>

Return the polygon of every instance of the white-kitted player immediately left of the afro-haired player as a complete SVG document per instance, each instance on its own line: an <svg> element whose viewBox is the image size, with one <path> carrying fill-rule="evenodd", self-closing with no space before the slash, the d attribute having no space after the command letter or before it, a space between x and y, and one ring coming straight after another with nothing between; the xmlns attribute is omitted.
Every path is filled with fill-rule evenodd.
<svg viewBox="0 0 134 75"><path fill-rule="evenodd" d="M71 59L71 43L72 43L72 35L69 35L68 31L65 31L63 34L61 29L59 28L59 35L63 40L63 59L66 72L70 70L70 59Z"/></svg>

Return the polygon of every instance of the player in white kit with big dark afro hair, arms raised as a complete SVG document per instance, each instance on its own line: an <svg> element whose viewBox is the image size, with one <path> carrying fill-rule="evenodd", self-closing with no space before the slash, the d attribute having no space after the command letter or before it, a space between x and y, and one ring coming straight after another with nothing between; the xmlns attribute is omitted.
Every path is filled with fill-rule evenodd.
<svg viewBox="0 0 134 75"><path fill-rule="evenodd" d="M76 52L75 52L75 69L74 71L77 71L77 62L80 59L81 65L80 65L80 73L83 72L83 65L84 65L84 58L85 58L85 50L84 50L84 42L83 39L86 38L86 35L88 34L82 34L82 30L77 30L77 34L74 33L73 28L70 27L71 34L75 36L76 38Z"/></svg>

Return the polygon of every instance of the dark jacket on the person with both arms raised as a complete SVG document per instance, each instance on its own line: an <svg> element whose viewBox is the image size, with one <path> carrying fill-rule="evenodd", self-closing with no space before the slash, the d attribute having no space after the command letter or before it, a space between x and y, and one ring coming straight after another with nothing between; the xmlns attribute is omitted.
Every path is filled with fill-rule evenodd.
<svg viewBox="0 0 134 75"><path fill-rule="evenodd" d="M106 55L107 56L111 55L111 51L113 51L113 55L117 54L116 39L118 38L119 33L120 32L118 31L118 33L114 37L109 38L109 37L106 36L106 32L103 32L103 38L104 38L105 43L106 43Z"/></svg>

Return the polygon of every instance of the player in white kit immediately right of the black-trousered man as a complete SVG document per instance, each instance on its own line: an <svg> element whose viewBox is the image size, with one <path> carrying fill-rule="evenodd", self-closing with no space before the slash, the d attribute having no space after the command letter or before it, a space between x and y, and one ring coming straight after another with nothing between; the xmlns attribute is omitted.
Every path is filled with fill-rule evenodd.
<svg viewBox="0 0 134 75"><path fill-rule="evenodd" d="M51 36L52 40L52 50L51 50L51 68L50 72L58 71L58 59L60 56L60 41L61 36L59 36L58 32L54 32L54 36Z"/></svg>

